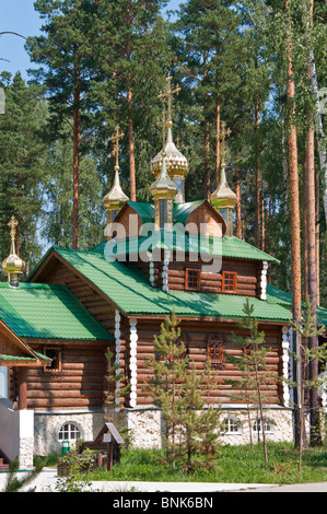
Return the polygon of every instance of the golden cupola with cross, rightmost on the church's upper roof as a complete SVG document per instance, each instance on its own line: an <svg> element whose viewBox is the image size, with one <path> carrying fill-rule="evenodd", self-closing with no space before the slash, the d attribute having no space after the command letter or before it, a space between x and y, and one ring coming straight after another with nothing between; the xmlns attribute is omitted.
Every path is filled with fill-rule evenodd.
<svg viewBox="0 0 327 514"><path fill-rule="evenodd" d="M233 209L236 203L236 195L235 192L232 191L232 189L227 185L226 180L226 163L225 163L225 155L226 155L226 144L225 144L225 137L230 136L231 130L226 129L225 124L222 124L222 129L221 129L221 138L222 138L222 143L221 143L221 155L222 155L222 163L221 163L221 179L220 179L220 185L215 189L215 191L212 192L210 200L213 207L223 217L223 219L226 222L227 226L227 232L226 235L227 237L233 236Z"/></svg>

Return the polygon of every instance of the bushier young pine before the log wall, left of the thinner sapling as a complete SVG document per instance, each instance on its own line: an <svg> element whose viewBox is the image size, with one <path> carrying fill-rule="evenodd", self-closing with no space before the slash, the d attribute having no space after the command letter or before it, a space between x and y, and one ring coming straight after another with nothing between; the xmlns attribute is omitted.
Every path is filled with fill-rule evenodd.
<svg viewBox="0 0 327 514"><path fill-rule="evenodd" d="M153 372L145 390L160 407L165 422L166 457L187 472L198 465L212 466L218 454L221 410L207 405L213 387L210 363L199 374L189 366L187 348L175 313L154 338L156 358L148 362ZM196 462L206 456L206 463Z"/></svg>

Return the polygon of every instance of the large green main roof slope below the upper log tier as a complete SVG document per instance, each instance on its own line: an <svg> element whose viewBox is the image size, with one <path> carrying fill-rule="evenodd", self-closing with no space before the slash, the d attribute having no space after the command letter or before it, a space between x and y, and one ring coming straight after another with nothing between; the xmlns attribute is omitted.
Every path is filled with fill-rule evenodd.
<svg viewBox="0 0 327 514"><path fill-rule="evenodd" d="M166 316L175 309L178 316L243 318L245 296L206 294L188 291L163 292L152 288L149 279L130 264L107 261L96 252L79 252L55 247L77 271L103 291L128 315ZM250 299L254 316L261 320L290 320L290 312L282 306Z"/></svg>

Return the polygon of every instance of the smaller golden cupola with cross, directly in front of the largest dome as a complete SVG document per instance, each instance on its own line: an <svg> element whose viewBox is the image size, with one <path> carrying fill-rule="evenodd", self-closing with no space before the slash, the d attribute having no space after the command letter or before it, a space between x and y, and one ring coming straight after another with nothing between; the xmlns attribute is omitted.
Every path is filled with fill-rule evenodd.
<svg viewBox="0 0 327 514"><path fill-rule="evenodd" d="M161 172L156 180L150 186L151 195L154 199L154 222L155 229L172 230L174 223L174 199L177 194L177 186L171 179L166 167L165 138L166 120L163 113L163 150Z"/></svg>

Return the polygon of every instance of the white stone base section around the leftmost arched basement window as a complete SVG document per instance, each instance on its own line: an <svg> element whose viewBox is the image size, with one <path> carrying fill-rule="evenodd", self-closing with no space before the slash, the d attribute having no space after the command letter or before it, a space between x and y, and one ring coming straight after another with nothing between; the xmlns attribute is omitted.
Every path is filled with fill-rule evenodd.
<svg viewBox="0 0 327 514"><path fill-rule="evenodd" d="M65 423L78 427L83 441L93 441L104 424L103 412L34 412L34 454L60 454L58 434Z"/></svg>

